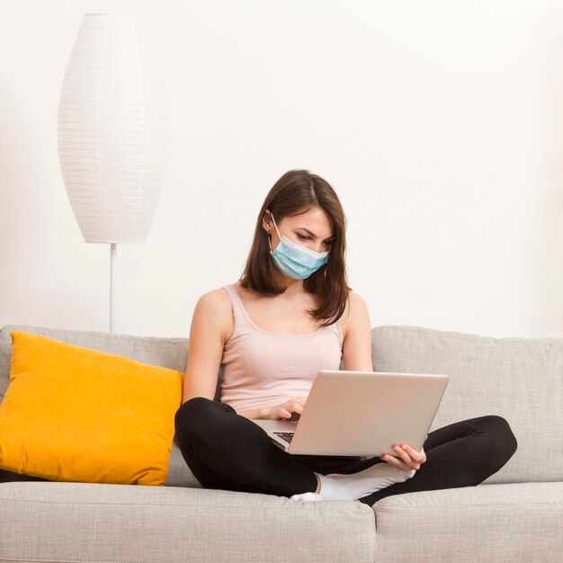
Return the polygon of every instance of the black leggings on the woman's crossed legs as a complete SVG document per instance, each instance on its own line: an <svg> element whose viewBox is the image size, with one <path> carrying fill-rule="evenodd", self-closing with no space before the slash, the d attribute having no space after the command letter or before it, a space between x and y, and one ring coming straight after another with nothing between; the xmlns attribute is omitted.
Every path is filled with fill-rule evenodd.
<svg viewBox="0 0 563 563"><path fill-rule="evenodd" d="M183 459L205 488L292 496L315 492L317 477L355 473L384 463L379 457L294 455L271 442L264 430L225 403L192 398L174 416ZM501 469L517 442L501 416L478 416L428 434L426 461L413 478L360 501L373 505L390 495L439 488L472 487Z"/></svg>

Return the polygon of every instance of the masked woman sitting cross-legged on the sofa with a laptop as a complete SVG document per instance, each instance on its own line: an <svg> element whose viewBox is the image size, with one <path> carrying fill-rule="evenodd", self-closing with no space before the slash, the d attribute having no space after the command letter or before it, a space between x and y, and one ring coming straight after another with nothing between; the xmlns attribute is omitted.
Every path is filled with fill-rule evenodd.
<svg viewBox="0 0 563 563"><path fill-rule="evenodd" d="M500 416L430 433L398 457L292 455L249 419L299 416L318 370L373 371L371 322L348 287L344 211L307 170L283 174L258 214L239 281L195 307L176 441L202 487L296 501L380 498L478 485L516 450ZM219 367L221 402L214 401ZM337 407L337 405L336 405Z"/></svg>

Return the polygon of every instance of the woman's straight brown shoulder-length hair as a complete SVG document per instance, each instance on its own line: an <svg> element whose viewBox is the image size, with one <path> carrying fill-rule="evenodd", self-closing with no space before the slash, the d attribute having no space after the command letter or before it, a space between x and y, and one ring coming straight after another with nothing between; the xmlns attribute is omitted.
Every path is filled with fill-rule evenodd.
<svg viewBox="0 0 563 563"><path fill-rule="evenodd" d="M285 291L274 281L277 266L270 257L268 235L262 225L264 212L270 210L279 223L284 217L300 215L315 208L324 210L328 215L335 239L328 262L303 280L303 287L321 300L320 307L308 309L308 313L317 320L325 320L322 326L328 326L342 317L352 288L346 283L344 210L331 185L317 174L310 174L308 170L290 170L273 184L258 214L255 237L240 284L259 293L280 294Z"/></svg>

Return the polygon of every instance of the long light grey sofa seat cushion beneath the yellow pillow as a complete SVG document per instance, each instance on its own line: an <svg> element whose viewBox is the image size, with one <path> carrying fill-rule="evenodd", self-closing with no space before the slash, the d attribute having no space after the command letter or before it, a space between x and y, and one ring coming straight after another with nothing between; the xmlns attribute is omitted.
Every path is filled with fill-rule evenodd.
<svg viewBox="0 0 563 563"><path fill-rule="evenodd" d="M371 507L98 483L0 484L2 560L373 563Z"/></svg>

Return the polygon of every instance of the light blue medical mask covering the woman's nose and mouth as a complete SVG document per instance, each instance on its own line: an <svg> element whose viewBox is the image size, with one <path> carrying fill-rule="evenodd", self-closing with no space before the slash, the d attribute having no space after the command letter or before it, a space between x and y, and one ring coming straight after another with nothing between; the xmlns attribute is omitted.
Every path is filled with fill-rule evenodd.
<svg viewBox="0 0 563 563"><path fill-rule="evenodd" d="M306 246L294 243L287 237L281 237L275 219L273 219L273 226L280 237L280 244L273 250L272 242L268 239L270 255L272 255L273 262L285 275L294 280L304 280L328 262L328 252L315 252Z"/></svg>

